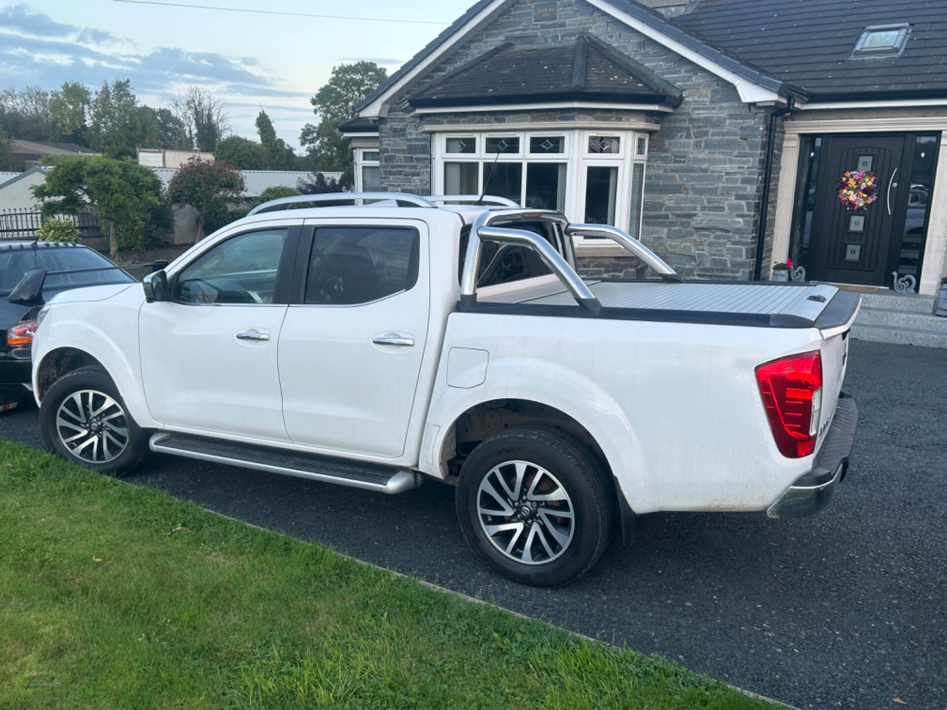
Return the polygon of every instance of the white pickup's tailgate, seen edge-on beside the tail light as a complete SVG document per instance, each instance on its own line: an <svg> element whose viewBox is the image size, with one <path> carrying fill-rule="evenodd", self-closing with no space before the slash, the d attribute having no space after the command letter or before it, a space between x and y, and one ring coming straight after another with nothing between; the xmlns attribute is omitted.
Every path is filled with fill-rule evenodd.
<svg viewBox="0 0 947 710"><path fill-rule="evenodd" d="M826 304L815 321L822 334L822 418L819 422L819 444L829 430L838 395L842 391L845 372L849 366L849 332L858 317L862 297L855 292L839 291Z"/></svg>

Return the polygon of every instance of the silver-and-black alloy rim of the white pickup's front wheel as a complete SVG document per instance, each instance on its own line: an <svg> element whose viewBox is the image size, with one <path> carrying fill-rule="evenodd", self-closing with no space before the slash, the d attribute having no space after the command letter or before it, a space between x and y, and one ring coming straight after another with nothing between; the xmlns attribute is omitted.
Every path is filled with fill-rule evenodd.
<svg viewBox="0 0 947 710"><path fill-rule="evenodd" d="M113 460L128 447L128 420L118 402L103 392L83 389L60 403L56 433L76 458L90 464Z"/></svg>

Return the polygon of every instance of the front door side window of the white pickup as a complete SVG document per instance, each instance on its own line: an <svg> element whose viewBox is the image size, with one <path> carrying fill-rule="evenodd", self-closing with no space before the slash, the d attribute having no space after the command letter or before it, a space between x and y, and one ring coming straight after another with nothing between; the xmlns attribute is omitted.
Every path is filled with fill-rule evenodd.
<svg viewBox="0 0 947 710"><path fill-rule="evenodd" d="M289 229L247 232L217 244L177 279L184 303L273 303L277 268Z"/></svg>

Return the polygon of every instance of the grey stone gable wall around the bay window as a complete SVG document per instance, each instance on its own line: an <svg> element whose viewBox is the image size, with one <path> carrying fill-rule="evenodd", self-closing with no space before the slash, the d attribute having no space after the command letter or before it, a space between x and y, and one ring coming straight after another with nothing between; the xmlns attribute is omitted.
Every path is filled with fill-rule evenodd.
<svg viewBox="0 0 947 710"><path fill-rule="evenodd" d="M542 25L533 22L532 4L518 0L498 13L408 91L504 41L571 44L582 32L596 35L685 92L673 113L650 115L661 128L651 137L642 241L682 275L752 276L768 112L742 103L729 82L582 0L559 0L558 20ZM636 112L634 118L640 117ZM382 185L390 191L430 194L431 136L422 130L425 125L625 119L630 116L621 112L588 110L418 116L396 99L379 126ZM775 208L775 193L771 204ZM609 257L582 262L583 271L601 275L627 274L630 268Z"/></svg>

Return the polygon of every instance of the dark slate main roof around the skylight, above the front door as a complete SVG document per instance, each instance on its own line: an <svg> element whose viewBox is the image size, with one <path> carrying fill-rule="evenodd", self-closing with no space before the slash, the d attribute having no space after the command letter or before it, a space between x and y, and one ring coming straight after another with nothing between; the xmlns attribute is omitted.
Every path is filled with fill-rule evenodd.
<svg viewBox="0 0 947 710"><path fill-rule="evenodd" d="M811 100L947 96L944 0L701 0L674 22ZM849 59L866 27L900 23L900 56Z"/></svg>

